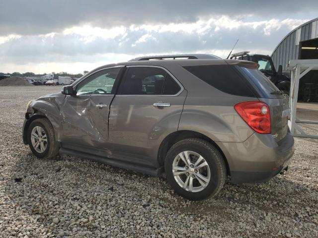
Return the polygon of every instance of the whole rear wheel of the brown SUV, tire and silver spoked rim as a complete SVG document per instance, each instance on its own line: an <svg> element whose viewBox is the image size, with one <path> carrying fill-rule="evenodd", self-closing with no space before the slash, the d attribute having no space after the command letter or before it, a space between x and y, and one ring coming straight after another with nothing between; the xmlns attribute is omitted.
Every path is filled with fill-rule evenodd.
<svg viewBox="0 0 318 238"><path fill-rule="evenodd" d="M182 160L182 158L179 156L181 152L184 155L183 158L185 158L184 153L187 153L189 155L190 161L193 162L190 163L190 166L193 167L192 171L190 171L191 168L187 167L187 165L184 163L184 160ZM201 159L201 162L204 161L203 163L199 163L199 156L202 156L205 160L204 161ZM196 166L195 161L198 161L199 163ZM207 163L207 165L193 171L193 169L198 168L197 166L205 164L205 162ZM181 170L173 171L172 167L181 168ZM186 168L189 169L187 170L187 174L175 176L178 172L183 173ZM164 169L166 179L171 187L174 189L174 191L189 200L203 200L216 195L223 187L226 179L226 165L224 158L222 157L219 150L207 141L198 138L184 139L175 143L169 149L166 155ZM189 181L192 181L193 186L190 187L189 185L189 189L184 189L181 186L182 181L184 181L185 184L186 179L190 176L193 177L192 179L189 179ZM202 185L201 182L204 183L204 181L199 179L199 176L200 178L204 176L204 179L209 178L209 181L206 182L205 185ZM201 180L201 182L199 182L199 180ZM190 191L191 188L192 191Z"/></svg>

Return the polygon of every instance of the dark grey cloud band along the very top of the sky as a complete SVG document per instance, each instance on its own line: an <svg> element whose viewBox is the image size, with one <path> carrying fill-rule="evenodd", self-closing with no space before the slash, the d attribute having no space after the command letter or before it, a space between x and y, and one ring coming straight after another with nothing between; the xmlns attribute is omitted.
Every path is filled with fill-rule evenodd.
<svg viewBox="0 0 318 238"><path fill-rule="evenodd" d="M317 0L0 0L0 35L46 34L87 23L109 28L194 22L216 15L295 19L313 12Z"/></svg>

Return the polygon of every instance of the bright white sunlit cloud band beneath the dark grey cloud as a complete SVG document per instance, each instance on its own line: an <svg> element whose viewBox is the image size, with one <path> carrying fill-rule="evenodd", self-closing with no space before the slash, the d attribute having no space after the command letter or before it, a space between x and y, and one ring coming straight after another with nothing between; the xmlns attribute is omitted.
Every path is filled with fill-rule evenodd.
<svg viewBox="0 0 318 238"><path fill-rule="evenodd" d="M77 34L55 34L52 37L23 36L0 44L0 52L3 52L0 61L5 59L6 62L12 63L59 62L61 60L91 62L99 61L100 55L103 54L134 56L168 52L209 53L215 49L228 51L237 37L239 37L237 49L272 50L280 41L281 35L285 35L288 31L286 25L282 25L279 31L275 30L270 35L264 35L263 27L253 29L251 26L240 26L233 29L221 28L216 31L213 25L201 34L138 29L127 30L113 39L96 36L89 42L85 42L85 37Z"/></svg>

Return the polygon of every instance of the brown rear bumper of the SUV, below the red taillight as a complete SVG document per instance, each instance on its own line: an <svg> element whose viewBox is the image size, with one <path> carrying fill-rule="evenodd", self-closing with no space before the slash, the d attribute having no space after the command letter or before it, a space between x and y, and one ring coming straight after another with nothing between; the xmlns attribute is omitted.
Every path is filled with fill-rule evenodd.
<svg viewBox="0 0 318 238"><path fill-rule="evenodd" d="M254 133L242 143L217 142L230 167L233 183L264 182L283 171L294 154L290 133L276 142L271 134Z"/></svg>

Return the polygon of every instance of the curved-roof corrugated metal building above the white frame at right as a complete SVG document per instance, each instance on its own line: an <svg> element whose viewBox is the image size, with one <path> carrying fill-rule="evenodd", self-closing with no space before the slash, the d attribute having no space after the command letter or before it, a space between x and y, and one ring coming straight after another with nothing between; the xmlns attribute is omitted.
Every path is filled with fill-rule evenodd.
<svg viewBox="0 0 318 238"><path fill-rule="evenodd" d="M273 51L275 68L281 64L287 70L289 60L318 59L318 18L291 31Z"/></svg>

